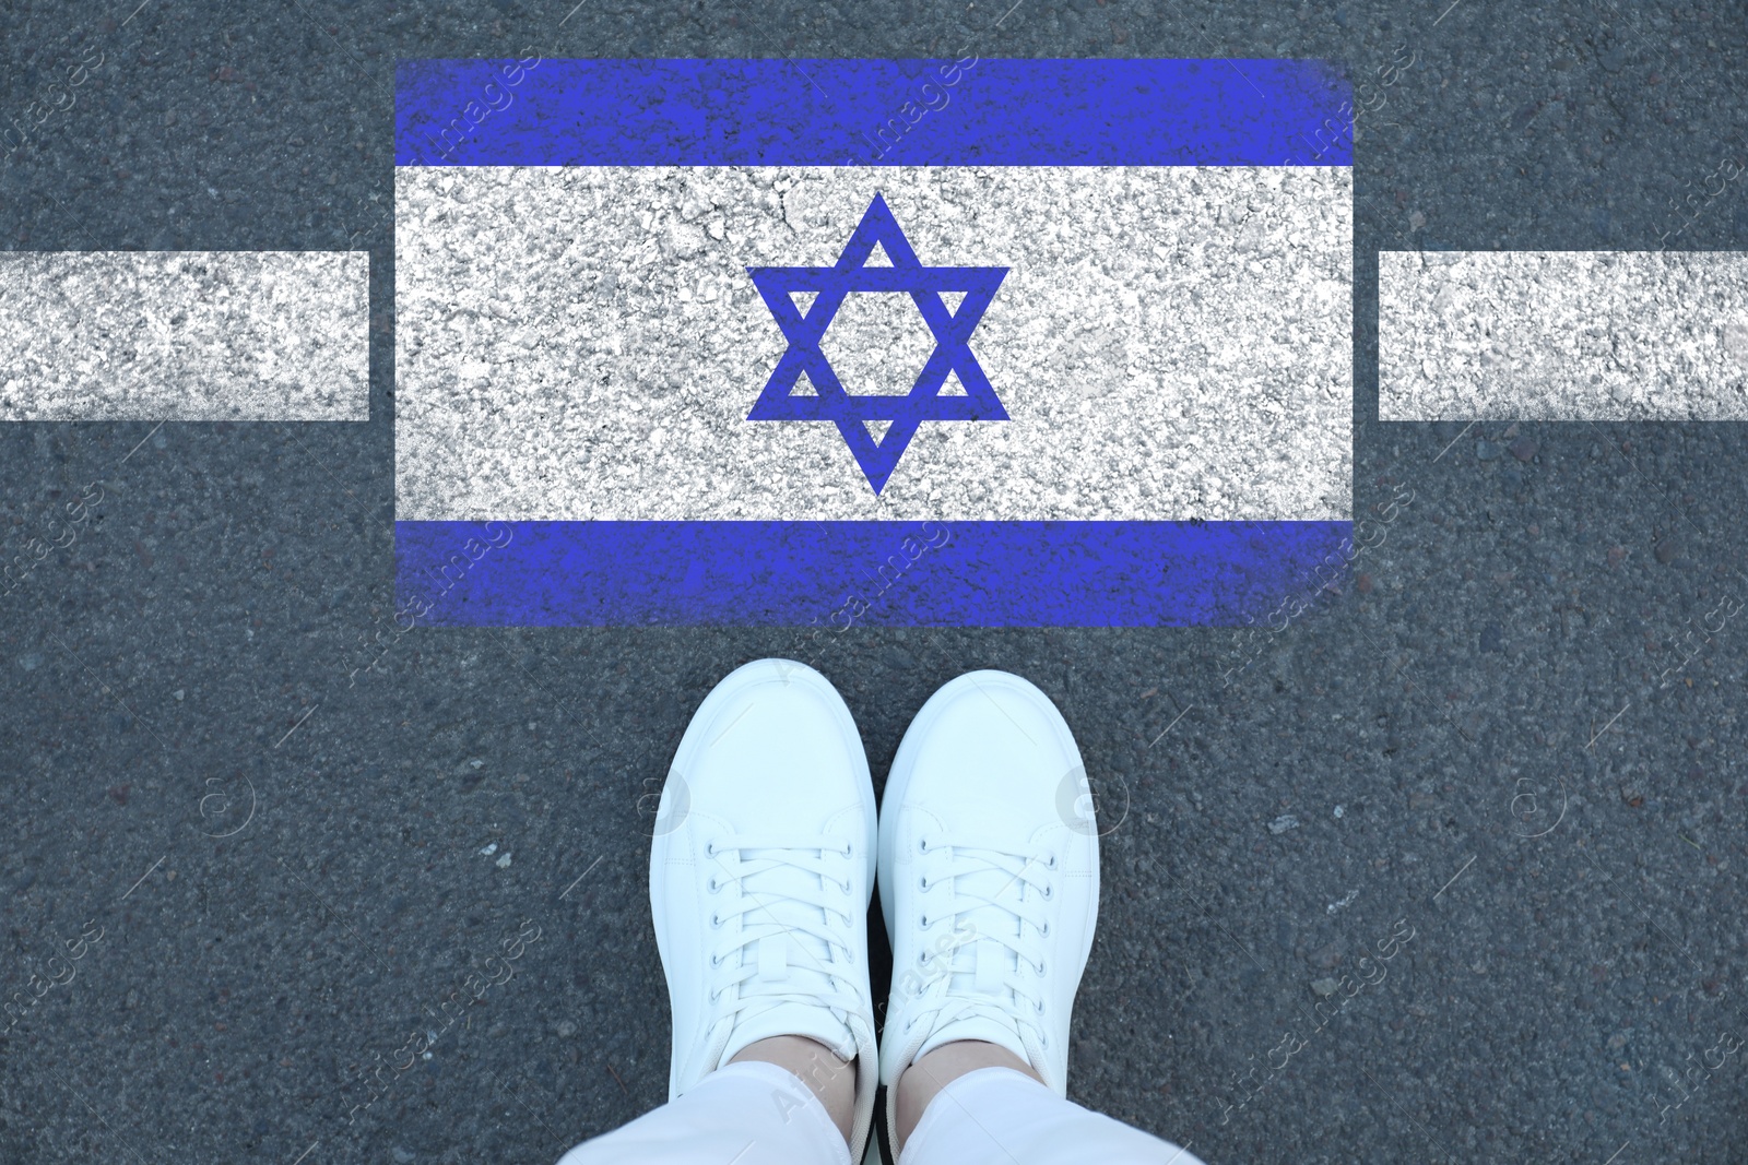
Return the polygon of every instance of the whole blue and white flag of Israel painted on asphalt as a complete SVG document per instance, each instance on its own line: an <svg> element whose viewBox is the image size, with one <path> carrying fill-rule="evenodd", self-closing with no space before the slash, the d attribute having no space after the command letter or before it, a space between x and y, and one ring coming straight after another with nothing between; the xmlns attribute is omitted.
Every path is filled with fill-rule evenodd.
<svg viewBox="0 0 1748 1165"><path fill-rule="evenodd" d="M413 622L1238 622L1351 533L1313 61L404 61Z"/></svg>

